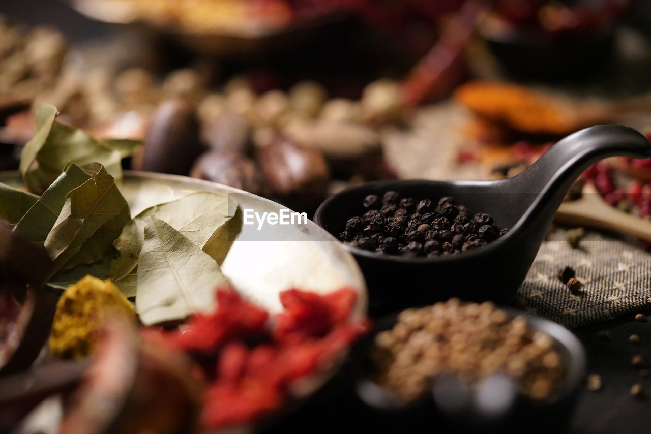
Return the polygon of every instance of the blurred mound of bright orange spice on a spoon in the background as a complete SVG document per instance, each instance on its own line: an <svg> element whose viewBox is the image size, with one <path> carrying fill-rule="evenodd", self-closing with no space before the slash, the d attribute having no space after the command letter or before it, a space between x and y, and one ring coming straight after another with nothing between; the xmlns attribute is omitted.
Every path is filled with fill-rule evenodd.
<svg viewBox="0 0 651 434"><path fill-rule="evenodd" d="M566 134L576 129L568 107L520 85L472 81L458 87L454 99L477 115L527 133Z"/></svg>

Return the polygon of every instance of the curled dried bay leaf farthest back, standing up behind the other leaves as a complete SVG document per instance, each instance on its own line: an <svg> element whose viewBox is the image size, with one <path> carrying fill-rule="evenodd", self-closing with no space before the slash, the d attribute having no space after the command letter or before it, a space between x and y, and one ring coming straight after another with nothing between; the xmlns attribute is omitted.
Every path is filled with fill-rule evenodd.
<svg viewBox="0 0 651 434"><path fill-rule="evenodd" d="M122 152L102 141L96 141L82 129L56 122L59 114L51 104L36 107L32 139L25 144L20 157L20 173L25 187L43 193L69 161L78 165L98 162L116 180L122 179Z"/></svg>

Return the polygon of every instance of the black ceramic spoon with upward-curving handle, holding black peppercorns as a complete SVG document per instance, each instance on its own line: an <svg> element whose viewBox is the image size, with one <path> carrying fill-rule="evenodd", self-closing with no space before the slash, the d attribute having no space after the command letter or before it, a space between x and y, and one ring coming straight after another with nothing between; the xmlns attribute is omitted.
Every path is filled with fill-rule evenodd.
<svg viewBox="0 0 651 434"><path fill-rule="evenodd" d="M505 303L527 275L570 185L587 167L612 156L651 157L651 143L632 128L594 126L565 137L513 178L364 183L328 198L314 221L337 236L350 217L363 214L361 203L367 195L395 190L417 199L452 196L473 213L490 213L508 232L480 249L435 258L392 256L344 245L367 280L370 310L378 315L453 296Z"/></svg>

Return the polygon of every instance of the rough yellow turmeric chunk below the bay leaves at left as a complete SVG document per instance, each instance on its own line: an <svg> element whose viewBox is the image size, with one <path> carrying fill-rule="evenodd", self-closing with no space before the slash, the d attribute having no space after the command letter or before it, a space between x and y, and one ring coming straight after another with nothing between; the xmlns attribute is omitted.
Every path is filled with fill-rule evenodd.
<svg viewBox="0 0 651 434"><path fill-rule="evenodd" d="M135 324L132 303L111 280L90 275L68 286L57 303L49 350L64 359L81 359L92 353L98 332L109 317L124 315Z"/></svg>

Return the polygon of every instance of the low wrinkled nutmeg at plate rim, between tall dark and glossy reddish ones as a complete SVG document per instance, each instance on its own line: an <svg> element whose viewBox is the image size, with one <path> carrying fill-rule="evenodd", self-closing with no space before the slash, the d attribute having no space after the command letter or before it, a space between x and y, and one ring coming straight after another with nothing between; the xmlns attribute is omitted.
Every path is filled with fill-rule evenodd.
<svg viewBox="0 0 651 434"><path fill-rule="evenodd" d="M202 154L195 161L190 176L255 194L263 193L262 174L255 161L236 152L210 150Z"/></svg>

